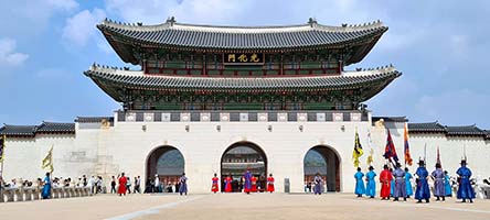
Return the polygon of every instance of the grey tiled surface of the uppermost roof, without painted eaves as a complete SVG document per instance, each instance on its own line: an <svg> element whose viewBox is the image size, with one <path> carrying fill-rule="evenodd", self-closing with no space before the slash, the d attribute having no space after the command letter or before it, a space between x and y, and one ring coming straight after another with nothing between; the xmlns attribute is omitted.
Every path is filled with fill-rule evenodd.
<svg viewBox="0 0 490 220"><path fill-rule="evenodd" d="M294 48L343 44L383 34L381 22L354 26L327 26L310 21L289 26L212 26L167 21L158 25L115 23L105 20L97 28L110 34L160 45L204 48Z"/></svg>

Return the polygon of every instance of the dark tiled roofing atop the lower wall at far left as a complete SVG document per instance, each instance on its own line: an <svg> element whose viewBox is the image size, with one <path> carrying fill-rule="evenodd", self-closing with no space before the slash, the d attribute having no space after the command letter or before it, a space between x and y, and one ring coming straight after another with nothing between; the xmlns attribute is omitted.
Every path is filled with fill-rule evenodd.
<svg viewBox="0 0 490 220"><path fill-rule="evenodd" d="M4 124L0 134L8 136L34 136L38 133L75 133L75 123L42 122L40 125Z"/></svg>

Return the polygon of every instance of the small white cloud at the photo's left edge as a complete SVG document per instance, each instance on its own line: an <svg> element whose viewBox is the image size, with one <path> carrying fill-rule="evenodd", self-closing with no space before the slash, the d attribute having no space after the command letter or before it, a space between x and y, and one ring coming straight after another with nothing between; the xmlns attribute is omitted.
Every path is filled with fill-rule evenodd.
<svg viewBox="0 0 490 220"><path fill-rule="evenodd" d="M18 66L29 58L28 54L15 52L17 41L12 38L0 38L0 64Z"/></svg>

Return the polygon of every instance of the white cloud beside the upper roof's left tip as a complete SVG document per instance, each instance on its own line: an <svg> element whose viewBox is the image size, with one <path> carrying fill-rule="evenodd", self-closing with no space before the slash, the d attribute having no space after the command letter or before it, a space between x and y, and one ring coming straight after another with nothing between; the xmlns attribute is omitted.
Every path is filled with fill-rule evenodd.
<svg viewBox="0 0 490 220"><path fill-rule="evenodd" d="M68 45L85 46L88 41L96 36L96 24L106 16L102 9L95 8L88 11L84 10L66 20L66 25L63 29L62 38Z"/></svg>

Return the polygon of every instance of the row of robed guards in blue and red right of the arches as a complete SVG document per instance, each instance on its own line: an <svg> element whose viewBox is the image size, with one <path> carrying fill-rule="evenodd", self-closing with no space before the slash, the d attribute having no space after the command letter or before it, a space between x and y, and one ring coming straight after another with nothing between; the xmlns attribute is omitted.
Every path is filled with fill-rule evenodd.
<svg viewBox="0 0 490 220"><path fill-rule="evenodd" d="M466 160L461 161L461 167L456 170L458 178L451 178L447 170L443 170L440 163L436 164L435 169L429 173L425 167L425 162L418 162L418 168L415 172L415 194L412 180L414 176L409 173L408 168L402 168L400 163L396 163L395 169L391 169L388 165L384 165L383 170L380 173L379 182L381 184L380 197L382 200L390 200L394 198L394 201L403 199L404 201L412 196L415 197L418 204L429 202L432 194L436 197L436 201L445 201L446 197L452 196L452 188L457 185L457 199L461 199L461 202L473 202L476 197L471 182L471 170L467 167ZM369 198L376 196L376 173L374 167L370 166L369 172L363 174L361 168L358 167L358 172L354 175L355 178L355 195L362 197L363 195ZM434 182L433 190L429 187L429 179ZM365 182L365 184L364 184ZM432 194L430 194L432 191Z"/></svg>

